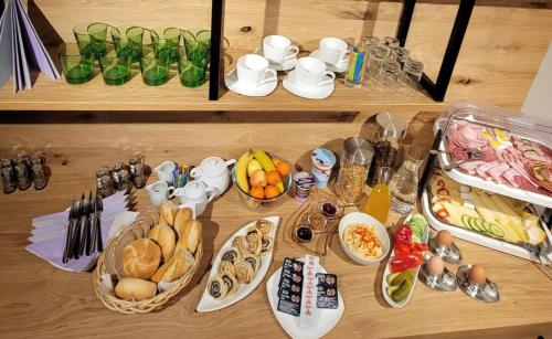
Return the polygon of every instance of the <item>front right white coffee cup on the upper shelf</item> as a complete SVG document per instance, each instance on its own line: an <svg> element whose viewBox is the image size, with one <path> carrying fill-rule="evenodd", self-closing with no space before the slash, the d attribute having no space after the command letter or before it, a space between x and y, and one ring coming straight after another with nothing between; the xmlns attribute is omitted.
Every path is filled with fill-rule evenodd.
<svg viewBox="0 0 552 339"><path fill-rule="evenodd" d="M296 84L310 88L331 84L336 80L333 72L326 71L326 63L311 56L299 59L293 74ZM330 78L325 80L326 76Z"/></svg>

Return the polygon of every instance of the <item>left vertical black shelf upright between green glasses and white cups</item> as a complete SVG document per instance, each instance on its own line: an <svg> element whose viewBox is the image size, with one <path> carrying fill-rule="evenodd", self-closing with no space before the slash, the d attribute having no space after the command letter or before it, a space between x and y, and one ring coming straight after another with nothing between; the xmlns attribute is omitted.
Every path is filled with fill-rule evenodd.
<svg viewBox="0 0 552 339"><path fill-rule="evenodd" d="M211 6L211 60L209 73L209 99L217 100L221 93L222 50L224 39L224 0L212 0Z"/></svg>

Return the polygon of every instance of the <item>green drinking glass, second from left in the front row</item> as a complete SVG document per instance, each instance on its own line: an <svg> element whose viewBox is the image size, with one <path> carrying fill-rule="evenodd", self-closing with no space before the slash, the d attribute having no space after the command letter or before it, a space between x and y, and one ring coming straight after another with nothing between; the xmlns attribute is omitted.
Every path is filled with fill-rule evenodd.
<svg viewBox="0 0 552 339"><path fill-rule="evenodd" d="M106 45L106 54L99 57L99 67L104 82L109 86L119 86L130 80L130 54L118 56L113 43Z"/></svg>

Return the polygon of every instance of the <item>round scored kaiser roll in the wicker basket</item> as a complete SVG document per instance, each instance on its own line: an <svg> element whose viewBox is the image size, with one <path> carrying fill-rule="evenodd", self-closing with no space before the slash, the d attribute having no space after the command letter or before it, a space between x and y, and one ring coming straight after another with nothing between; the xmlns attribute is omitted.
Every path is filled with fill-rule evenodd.
<svg viewBox="0 0 552 339"><path fill-rule="evenodd" d="M161 248L150 239L135 240L123 251L123 269L126 277L150 278L159 267Z"/></svg>

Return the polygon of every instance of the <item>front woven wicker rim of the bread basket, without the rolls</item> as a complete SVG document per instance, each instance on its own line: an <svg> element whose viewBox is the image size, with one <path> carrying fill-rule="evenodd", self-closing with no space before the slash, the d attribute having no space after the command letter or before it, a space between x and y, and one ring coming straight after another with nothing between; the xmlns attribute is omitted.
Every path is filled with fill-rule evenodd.
<svg viewBox="0 0 552 339"><path fill-rule="evenodd" d="M109 309L116 310L123 314L145 314L152 311L155 309L159 309L167 303L169 299L174 297L182 288L184 288L192 279L195 271L198 271L198 266L200 265L201 257L203 256L203 240L200 240L198 245L198 250L193 255L195 258L195 265L190 268L183 276L181 276L174 285L168 290L156 295L151 299L140 300L140 301L130 301L119 299L116 296L105 294L100 289L102 285L102 274L106 272L104 265L104 254L98 257L96 269L94 271L94 289L99 300Z"/></svg>

